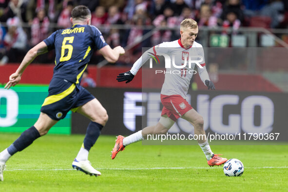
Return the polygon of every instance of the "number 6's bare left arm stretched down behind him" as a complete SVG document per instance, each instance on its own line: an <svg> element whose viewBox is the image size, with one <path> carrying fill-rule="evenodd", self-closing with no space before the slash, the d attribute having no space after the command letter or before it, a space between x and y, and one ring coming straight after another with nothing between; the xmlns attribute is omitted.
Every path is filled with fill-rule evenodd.
<svg viewBox="0 0 288 192"><path fill-rule="evenodd" d="M25 57L23 58L21 64L19 65L18 69L15 73L13 73L9 77L8 83L5 85L5 89L9 89L10 87L14 87L16 84L19 83L21 80L21 76L26 69L26 67L38 56L48 52L47 45L42 41L35 45L32 49L30 49Z"/></svg>

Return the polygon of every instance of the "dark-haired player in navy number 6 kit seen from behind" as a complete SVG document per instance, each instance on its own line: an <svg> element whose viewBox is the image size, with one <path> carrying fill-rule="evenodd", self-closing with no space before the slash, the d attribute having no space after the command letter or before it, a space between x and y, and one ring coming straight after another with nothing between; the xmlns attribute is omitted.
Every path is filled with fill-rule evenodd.
<svg viewBox="0 0 288 192"><path fill-rule="evenodd" d="M25 68L34 58L55 49L56 66L49 85L49 94L44 100L37 122L0 153L0 181L3 181L6 161L13 154L28 147L38 137L47 134L50 128L64 118L70 110L91 120L82 147L72 166L86 174L101 175L91 166L88 161L88 154L101 129L106 124L108 115L100 102L80 86L80 81L94 49L98 49L109 62L116 62L119 55L124 54L125 51L120 46L112 49L105 42L101 32L96 27L90 26L91 12L86 6L75 7L71 15L73 26L54 32L50 37L29 50L5 86L9 89L18 84Z"/></svg>

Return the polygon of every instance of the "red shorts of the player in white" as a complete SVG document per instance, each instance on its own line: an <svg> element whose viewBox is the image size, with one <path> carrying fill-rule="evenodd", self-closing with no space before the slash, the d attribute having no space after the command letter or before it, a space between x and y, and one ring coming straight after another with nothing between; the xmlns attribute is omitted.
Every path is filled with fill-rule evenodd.
<svg viewBox="0 0 288 192"><path fill-rule="evenodd" d="M192 106L180 95L165 96L161 94L161 103L163 104L162 115L167 115L173 121L176 121L189 110Z"/></svg>

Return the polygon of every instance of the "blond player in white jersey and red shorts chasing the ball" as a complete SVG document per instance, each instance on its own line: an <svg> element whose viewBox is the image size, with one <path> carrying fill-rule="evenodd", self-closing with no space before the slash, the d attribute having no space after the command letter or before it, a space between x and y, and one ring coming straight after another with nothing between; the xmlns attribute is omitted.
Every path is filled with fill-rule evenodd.
<svg viewBox="0 0 288 192"><path fill-rule="evenodd" d="M187 57L189 54L196 54L203 58L199 60L197 65L199 76L208 89L215 89L206 71L202 45L195 41L197 34L197 22L193 19L184 19L180 24L180 39L154 46L134 63L130 71L117 76L119 82L126 81L126 83L128 83L132 81L140 67L149 59L148 54L146 54L148 52L154 52L154 55L157 55L160 54L158 53L160 50L162 52L164 50L164 52L166 52L165 54L170 56L174 55L175 65L183 65L183 62L187 64L179 74L169 73L175 69L179 70L179 68L175 68L174 65L171 65L171 68L166 68L165 80L161 89L161 102L164 107L159 122L155 126L146 127L127 137L118 135L112 151L112 159L115 158L118 152L123 151L127 145L146 139L148 134L166 134L180 117L189 121L194 126L194 134L206 135L203 128L203 117L185 100L192 78L192 73L186 71L188 69ZM163 49L164 47L166 47L166 49ZM171 60L172 59L173 58L171 58ZM195 64L196 63L193 63L190 69L194 69ZM208 165L219 166L227 161L227 158L222 158L219 154L212 153L207 138L200 136L198 138L200 138L198 139L198 144L206 155Z"/></svg>

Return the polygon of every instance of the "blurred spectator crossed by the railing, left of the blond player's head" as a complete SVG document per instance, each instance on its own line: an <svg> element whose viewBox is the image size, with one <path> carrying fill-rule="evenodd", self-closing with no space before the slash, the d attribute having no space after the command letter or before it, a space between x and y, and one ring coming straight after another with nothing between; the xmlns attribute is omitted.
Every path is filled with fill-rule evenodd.
<svg viewBox="0 0 288 192"><path fill-rule="evenodd" d="M157 16L153 20L153 25L155 27L175 27L178 25L178 18L173 17L173 9L169 6L167 6L164 9L163 15ZM172 38L172 31L171 30L159 30L156 31L152 36L152 44L157 45L161 42L170 41Z"/></svg>

